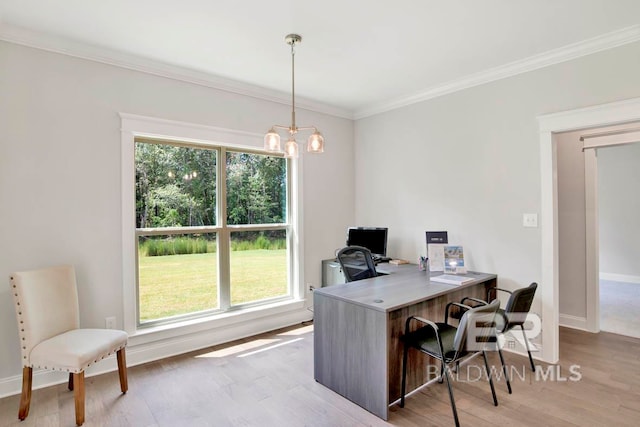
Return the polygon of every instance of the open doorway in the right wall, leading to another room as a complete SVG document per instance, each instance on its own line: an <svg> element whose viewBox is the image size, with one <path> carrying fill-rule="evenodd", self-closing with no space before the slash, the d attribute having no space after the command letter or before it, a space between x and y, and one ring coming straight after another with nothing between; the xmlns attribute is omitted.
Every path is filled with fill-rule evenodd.
<svg viewBox="0 0 640 427"><path fill-rule="evenodd" d="M629 146L634 145L630 141L635 138L640 140L640 123L554 135L557 145L558 304L562 326L598 332L601 329L600 272L640 275L640 266L635 266L640 258L640 250L636 248L640 232L635 231L638 229L636 215L630 212L632 207L634 212L640 211L637 206L640 196L630 191L634 188L633 183L640 180L640 172L635 171L634 150L629 150ZM621 153L616 154L619 151ZM607 191L600 191L602 189ZM600 233L601 223L605 234ZM622 258L614 255L621 251L625 252ZM600 268L601 252L605 255L604 270ZM606 296L614 295L607 293ZM612 298L608 300L613 302ZM610 305L607 307L611 308ZM607 314L611 313L612 310L607 311Z"/></svg>

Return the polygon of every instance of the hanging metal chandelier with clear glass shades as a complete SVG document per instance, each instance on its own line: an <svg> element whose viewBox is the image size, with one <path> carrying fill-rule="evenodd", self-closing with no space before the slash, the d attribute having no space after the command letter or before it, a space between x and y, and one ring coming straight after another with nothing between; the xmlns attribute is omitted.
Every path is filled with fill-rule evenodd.
<svg viewBox="0 0 640 427"><path fill-rule="evenodd" d="M291 125L273 125L264 136L264 149L272 153L281 153L280 134L277 129L286 130L289 133L289 140L284 144L284 156L288 158L298 157L298 143L295 135L298 131L312 130L313 132L307 140L307 151L309 153L322 153L324 151L324 137L315 126L296 126L296 84L295 84L295 46L302 41L298 34L289 34L284 41L291 46Z"/></svg>

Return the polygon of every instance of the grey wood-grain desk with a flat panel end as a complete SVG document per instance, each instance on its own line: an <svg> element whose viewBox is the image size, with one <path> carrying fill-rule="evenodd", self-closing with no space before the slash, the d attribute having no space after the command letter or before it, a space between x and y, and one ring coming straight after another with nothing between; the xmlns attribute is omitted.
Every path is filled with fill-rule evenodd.
<svg viewBox="0 0 640 427"><path fill-rule="evenodd" d="M414 264L379 269L389 274L314 291L314 377L386 420L389 405L400 398L407 317L443 321L448 302L484 299L497 276L469 272L473 281L454 286L430 281ZM429 380L428 363L426 355L410 352L407 391Z"/></svg>

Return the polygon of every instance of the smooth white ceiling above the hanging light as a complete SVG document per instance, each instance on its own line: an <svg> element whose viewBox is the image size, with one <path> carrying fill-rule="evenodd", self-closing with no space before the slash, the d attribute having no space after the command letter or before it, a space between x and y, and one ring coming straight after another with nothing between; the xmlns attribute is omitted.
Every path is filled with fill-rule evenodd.
<svg viewBox="0 0 640 427"><path fill-rule="evenodd" d="M364 117L640 40L639 0L0 0L0 39Z"/></svg>

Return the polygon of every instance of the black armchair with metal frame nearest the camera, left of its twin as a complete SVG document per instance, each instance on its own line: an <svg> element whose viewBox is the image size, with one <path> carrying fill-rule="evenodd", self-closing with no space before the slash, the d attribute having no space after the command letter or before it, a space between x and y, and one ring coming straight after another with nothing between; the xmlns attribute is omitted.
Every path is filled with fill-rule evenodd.
<svg viewBox="0 0 640 427"><path fill-rule="evenodd" d="M460 319L458 327L449 325L449 309L457 306L466 310ZM449 399L451 400L451 410L456 427L460 426L458 420L458 411L456 410L456 402L453 398L453 389L451 388L451 379L449 378L449 365L457 364L461 359L471 354L482 352L484 358L484 366L487 370L487 377L491 387L493 396L493 404L498 406L496 390L493 386L493 379L489 363L487 361L486 350L496 347L495 333L495 316L496 311L500 308L500 300L494 300L490 304L478 305L477 307L469 307L460 303L451 302L445 308L444 323L432 322L418 316L411 316L405 322L405 332L402 340L404 341L404 353L402 355L402 390L400 397L400 407L404 408L404 397L407 382L407 356L410 348L415 348L422 353L438 359L441 363L441 371L439 382L442 377L447 380L449 389ZM416 321L424 324L413 332L410 331L411 322ZM474 329L471 329L474 328ZM480 329L478 329L480 328ZM473 331L472 335L469 332ZM473 342L468 341L468 336L475 337Z"/></svg>

